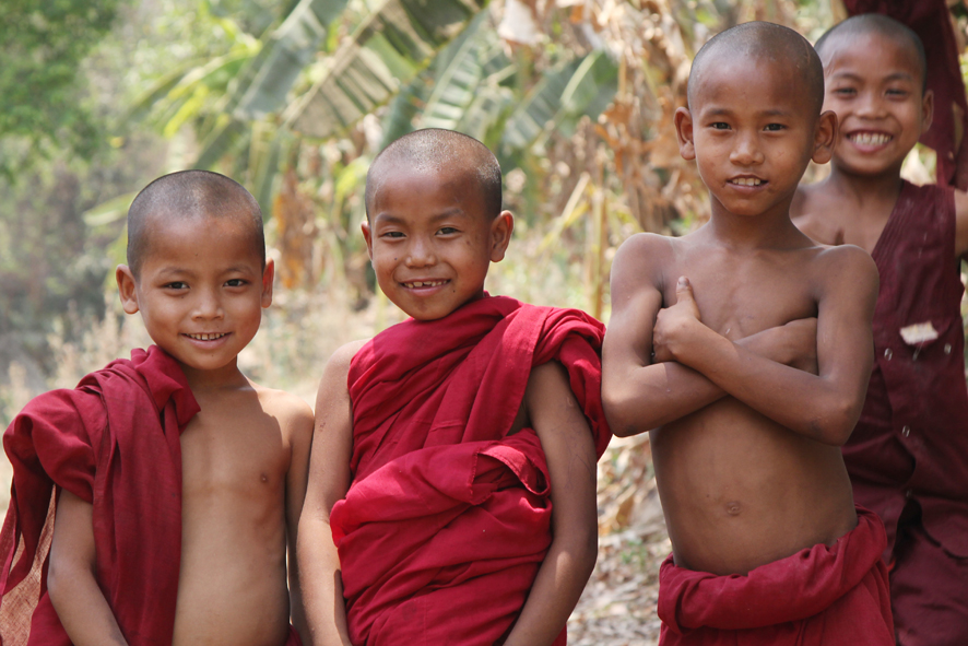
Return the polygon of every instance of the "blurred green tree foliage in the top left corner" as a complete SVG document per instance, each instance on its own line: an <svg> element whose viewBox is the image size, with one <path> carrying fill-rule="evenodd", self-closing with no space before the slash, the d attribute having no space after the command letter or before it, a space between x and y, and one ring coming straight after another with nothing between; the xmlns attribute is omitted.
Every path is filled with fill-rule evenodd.
<svg viewBox="0 0 968 646"><path fill-rule="evenodd" d="M90 157L99 125L79 74L119 0L0 2L0 172L8 178L51 149Z"/></svg>

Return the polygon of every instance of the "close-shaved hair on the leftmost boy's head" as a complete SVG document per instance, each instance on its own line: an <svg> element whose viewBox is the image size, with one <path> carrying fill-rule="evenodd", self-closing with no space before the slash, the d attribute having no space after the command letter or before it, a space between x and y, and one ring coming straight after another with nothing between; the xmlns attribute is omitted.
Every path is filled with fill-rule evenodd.
<svg viewBox="0 0 968 646"><path fill-rule="evenodd" d="M256 199L234 179L210 171L181 171L149 184L128 209L128 267L137 278L151 254L151 237L158 220L238 218L251 227L252 250L265 267L262 211Z"/></svg>

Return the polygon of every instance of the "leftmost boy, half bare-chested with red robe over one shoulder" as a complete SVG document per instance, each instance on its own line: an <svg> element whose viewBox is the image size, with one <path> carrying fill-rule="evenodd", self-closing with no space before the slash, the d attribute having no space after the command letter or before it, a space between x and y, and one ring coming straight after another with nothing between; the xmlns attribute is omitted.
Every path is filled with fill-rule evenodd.
<svg viewBox="0 0 968 646"><path fill-rule="evenodd" d="M175 173L134 199L117 280L157 345L38 397L8 428L3 644L298 644L286 550L311 411L237 366L272 277L259 205L227 177Z"/></svg>

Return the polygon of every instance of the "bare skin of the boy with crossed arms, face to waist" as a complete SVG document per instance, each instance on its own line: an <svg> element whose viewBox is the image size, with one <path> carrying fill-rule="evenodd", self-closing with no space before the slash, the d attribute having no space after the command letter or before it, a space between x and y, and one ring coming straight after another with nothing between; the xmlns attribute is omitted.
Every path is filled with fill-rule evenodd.
<svg viewBox="0 0 968 646"><path fill-rule="evenodd" d="M807 162L829 160L833 115L808 114L781 62L737 58L708 63L676 115L711 221L622 246L603 351L613 431L650 431L675 563L718 575L855 526L839 447L863 404L877 292L870 256L789 219Z"/></svg>

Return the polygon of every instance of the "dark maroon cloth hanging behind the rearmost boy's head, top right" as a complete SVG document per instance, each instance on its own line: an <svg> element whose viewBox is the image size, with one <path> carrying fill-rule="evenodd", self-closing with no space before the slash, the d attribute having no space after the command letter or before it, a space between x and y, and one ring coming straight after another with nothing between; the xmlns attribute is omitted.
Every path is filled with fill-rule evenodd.
<svg viewBox="0 0 968 646"><path fill-rule="evenodd" d="M968 189L968 99L958 43L945 0L843 0L850 15L882 13L918 34L928 56L928 89L934 92L934 121L921 143L937 151L937 183Z"/></svg>

